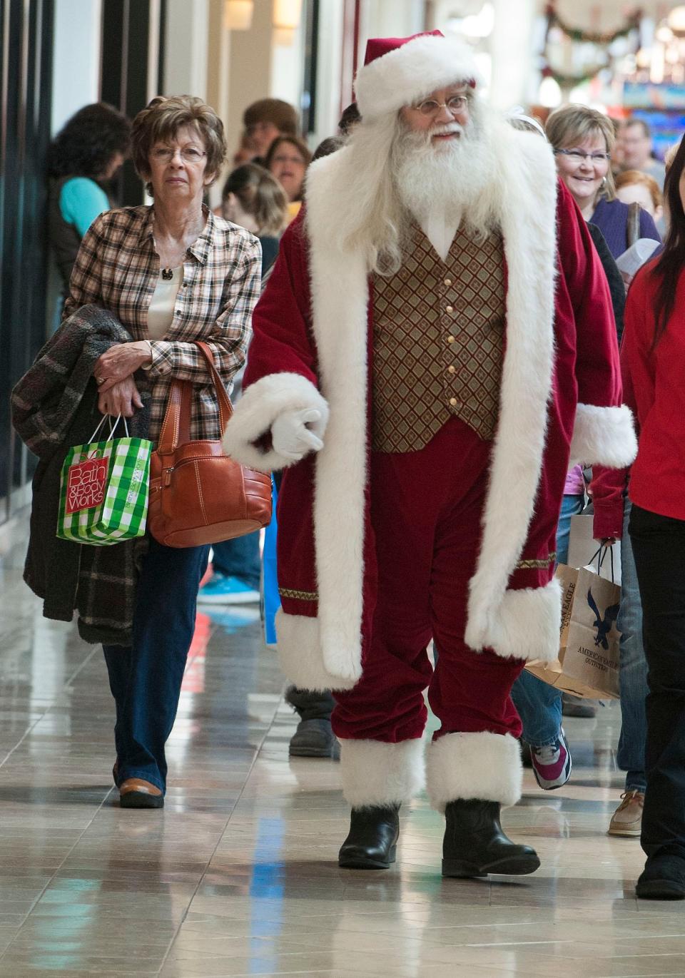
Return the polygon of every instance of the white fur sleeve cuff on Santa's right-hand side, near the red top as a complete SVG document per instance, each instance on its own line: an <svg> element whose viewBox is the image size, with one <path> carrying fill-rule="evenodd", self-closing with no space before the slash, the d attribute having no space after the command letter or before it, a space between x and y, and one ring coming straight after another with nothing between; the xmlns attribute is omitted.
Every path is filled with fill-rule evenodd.
<svg viewBox="0 0 685 978"><path fill-rule="evenodd" d="M578 404L571 438L571 466L624 468L637 455L637 438L630 409Z"/></svg>

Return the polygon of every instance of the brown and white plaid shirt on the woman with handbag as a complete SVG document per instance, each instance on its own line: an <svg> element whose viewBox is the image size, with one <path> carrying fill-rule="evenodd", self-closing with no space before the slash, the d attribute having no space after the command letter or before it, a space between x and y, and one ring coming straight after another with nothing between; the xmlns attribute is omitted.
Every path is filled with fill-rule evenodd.
<svg viewBox="0 0 685 978"><path fill-rule="evenodd" d="M148 339L148 308L160 274L154 209L122 207L101 214L81 242L63 319L86 303L109 309L134 339ZM142 372L151 390L150 438L159 437L171 381L194 386L190 436L220 436L214 385L193 340L211 347L229 388L245 362L251 313L259 297L261 246L248 231L206 210L206 225L186 252L183 282L166 338L151 341L153 362ZM136 382L140 374L136 375Z"/></svg>

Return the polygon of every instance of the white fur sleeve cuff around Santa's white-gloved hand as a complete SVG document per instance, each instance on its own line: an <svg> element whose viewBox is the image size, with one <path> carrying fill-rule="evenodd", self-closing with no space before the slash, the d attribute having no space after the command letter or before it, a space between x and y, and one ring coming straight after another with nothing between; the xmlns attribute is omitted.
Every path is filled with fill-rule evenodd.
<svg viewBox="0 0 685 978"><path fill-rule="evenodd" d="M313 383L299 374L268 374L248 387L226 425L223 447L243 466L272 471L294 465L293 459L271 449L263 452L255 442L285 411L316 408L322 431L328 422L328 404Z"/></svg>

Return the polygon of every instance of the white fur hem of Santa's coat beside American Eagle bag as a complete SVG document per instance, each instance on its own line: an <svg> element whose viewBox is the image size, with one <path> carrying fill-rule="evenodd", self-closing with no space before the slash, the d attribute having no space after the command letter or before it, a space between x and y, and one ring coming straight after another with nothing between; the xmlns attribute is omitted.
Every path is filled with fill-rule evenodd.
<svg viewBox="0 0 685 978"><path fill-rule="evenodd" d="M479 607L478 598L478 587L472 587L465 634L471 648L492 648L505 659L551 662L557 657L562 589L556 578L544 588L505 591L494 608Z"/></svg>

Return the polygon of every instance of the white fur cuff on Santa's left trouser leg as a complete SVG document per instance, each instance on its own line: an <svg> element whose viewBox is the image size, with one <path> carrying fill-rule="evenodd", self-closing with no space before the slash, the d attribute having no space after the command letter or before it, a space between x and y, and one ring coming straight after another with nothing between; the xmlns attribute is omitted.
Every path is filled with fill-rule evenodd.
<svg viewBox="0 0 685 978"><path fill-rule="evenodd" d="M342 740L342 793L352 808L400 805L425 783L424 741Z"/></svg>

